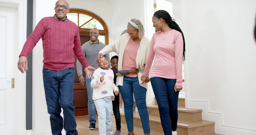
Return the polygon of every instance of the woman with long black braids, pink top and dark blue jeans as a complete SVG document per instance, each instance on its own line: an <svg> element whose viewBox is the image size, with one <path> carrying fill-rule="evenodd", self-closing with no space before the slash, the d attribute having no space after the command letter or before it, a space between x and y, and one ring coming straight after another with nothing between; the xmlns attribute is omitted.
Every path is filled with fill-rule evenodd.
<svg viewBox="0 0 256 135"><path fill-rule="evenodd" d="M185 60L185 42L180 27L165 10L152 17L156 33L152 36L150 50L141 80L151 85L159 108L165 135L177 135L178 96L182 90L182 60ZM154 59L155 58L155 59Z"/></svg>

